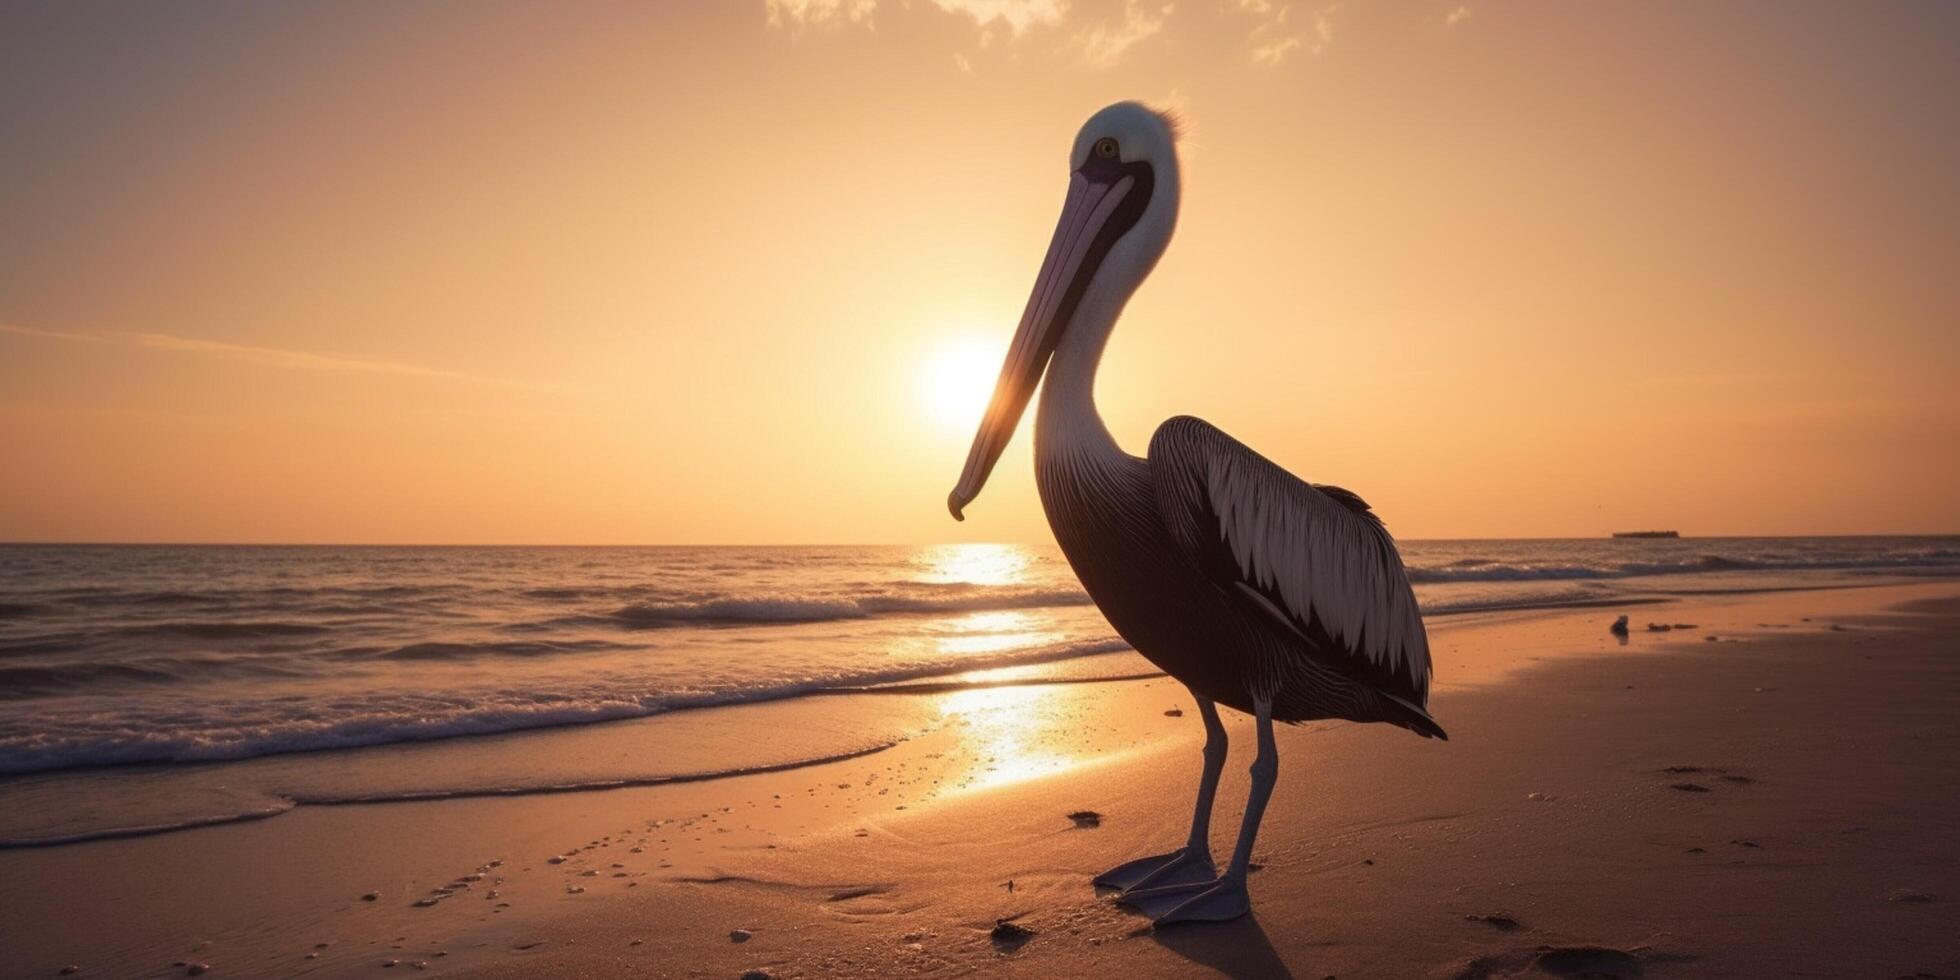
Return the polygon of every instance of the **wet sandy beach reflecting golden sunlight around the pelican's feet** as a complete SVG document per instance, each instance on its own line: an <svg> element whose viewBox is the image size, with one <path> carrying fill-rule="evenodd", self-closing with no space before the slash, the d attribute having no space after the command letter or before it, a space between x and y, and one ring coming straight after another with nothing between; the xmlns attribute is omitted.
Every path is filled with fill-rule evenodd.
<svg viewBox="0 0 1960 980"><path fill-rule="evenodd" d="M915 733L780 772L4 851L0 974L1960 974L1960 586L1431 635L1450 741L1282 729L1254 913L1227 925L1152 931L1088 884L1190 819L1201 733L1154 678L702 711L792 747L849 715ZM1227 723L1221 857L1250 760Z"/></svg>

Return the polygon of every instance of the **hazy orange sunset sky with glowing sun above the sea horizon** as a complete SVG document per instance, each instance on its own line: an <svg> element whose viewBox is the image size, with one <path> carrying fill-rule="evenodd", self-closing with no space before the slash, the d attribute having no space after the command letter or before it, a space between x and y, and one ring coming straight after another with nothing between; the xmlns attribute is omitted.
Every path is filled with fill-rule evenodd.
<svg viewBox="0 0 1960 980"><path fill-rule="evenodd" d="M0 539L1049 541L972 419L1096 108L1100 402L1401 537L1960 531L1960 6L6 4Z"/></svg>

